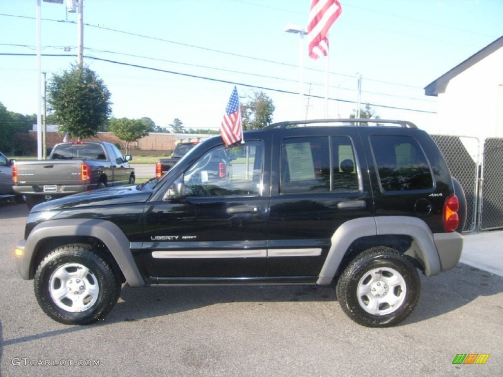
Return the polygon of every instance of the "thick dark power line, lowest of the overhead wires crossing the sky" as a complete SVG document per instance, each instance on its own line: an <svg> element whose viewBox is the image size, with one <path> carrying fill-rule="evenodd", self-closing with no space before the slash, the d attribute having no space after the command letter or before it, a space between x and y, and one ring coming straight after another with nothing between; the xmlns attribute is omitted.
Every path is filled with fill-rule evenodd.
<svg viewBox="0 0 503 377"><path fill-rule="evenodd" d="M9 55L9 56L36 56L36 54L22 54L22 53L0 53L0 55ZM42 54L42 56L76 57L76 55L66 55L66 54ZM89 55L85 55L84 57L87 58L87 59L92 59L92 60L104 61L104 62L109 62L109 63L113 63L113 64L119 64L119 65L125 65L125 66L135 67L135 68L148 69L148 70L153 70L153 71L157 71L157 72L171 73L171 74L181 75L181 76L185 76L185 77L199 78L199 79L204 79L204 80L209 80L209 81L215 81L215 82L224 82L224 83L233 84L233 85L240 85L240 86L244 86L244 87L257 88L257 89L263 89L263 90L271 90L271 91L276 91L276 92L280 92L280 93L293 94L293 95L297 95L297 96L299 95L299 92L296 92L296 91L283 90L283 89L271 88L271 87L259 86L259 85L252 85L252 84L247 84L247 83L243 83L243 82L229 81L229 80L223 80L223 79L218 79L218 78L213 78L213 77L207 77L207 76L199 76L199 75L194 75L194 74L189 74L189 73L182 73L182 72L176 72L176 71L171 71L171 70L166 70L166 69L160 69L160 68L154 68L154 67L147 67L147 66L144 66L144 65L125 63L125 62L120 62L120 61L110 60L110 59L102 59L102 58L98 58L98 57L95 57L95 56L89 56ZM311 98L320 98L320 99L324 99L325 98L324 96L315 96L315 95L308 95L308 96L311 97ZM356 104L355 101L350 101L350 100L342 100L342 99L331 98L331 97L328 98L328 99L330 101L338 101L338 102ZM400 107L396 107L396 106L379 105L379 104L371 104L371 103L369 103L369 105L370 106L374 106L374 107L385 108L385 109L406 110L406 111L413 111L413 112L417 112L417 113L436 114L436 112L427 111L427 110L400 108Z"/></svg>

